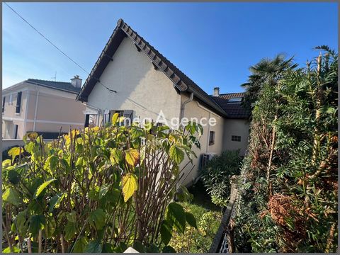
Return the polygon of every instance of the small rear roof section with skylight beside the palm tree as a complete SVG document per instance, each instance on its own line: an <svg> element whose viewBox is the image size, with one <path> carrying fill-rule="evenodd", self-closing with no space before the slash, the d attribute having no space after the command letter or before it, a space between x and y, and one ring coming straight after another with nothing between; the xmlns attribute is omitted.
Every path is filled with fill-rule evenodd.
<svg viewBox="0 0 340 255"><path fill-rule="evenodd" d="M229 102L229 99L240 97L244 97L244 92L212 96L215 102L227 113L227 118L249 118L249 111L247 111L240 102Z"/></svg>

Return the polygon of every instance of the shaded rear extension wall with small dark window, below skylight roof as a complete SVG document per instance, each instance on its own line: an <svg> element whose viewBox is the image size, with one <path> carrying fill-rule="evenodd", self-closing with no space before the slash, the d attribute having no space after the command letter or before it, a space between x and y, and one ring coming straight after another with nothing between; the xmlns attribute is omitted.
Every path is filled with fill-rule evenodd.
<svg viewBox="0 0 340 255"><path fill-rule="evenodd" d="M241 141L232 141L232 136L241 137ZM249 121L245 119L225 119L225 135L223 137L223 150L240 149L244 156L248 146Z"/></svg>

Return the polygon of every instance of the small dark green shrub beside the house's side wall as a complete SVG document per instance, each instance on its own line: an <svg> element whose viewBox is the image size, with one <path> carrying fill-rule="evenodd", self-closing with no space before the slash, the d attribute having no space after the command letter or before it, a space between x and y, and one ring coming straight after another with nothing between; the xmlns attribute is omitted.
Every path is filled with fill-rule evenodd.
<svg viewBox="0 0 340 255"><path fill-rule="evenodd" d="M203 183L212 203L220 207L227 206L230 196L230 177L239 174L242 158L239 150L227 150L212 157L203 169Z"/></svg>

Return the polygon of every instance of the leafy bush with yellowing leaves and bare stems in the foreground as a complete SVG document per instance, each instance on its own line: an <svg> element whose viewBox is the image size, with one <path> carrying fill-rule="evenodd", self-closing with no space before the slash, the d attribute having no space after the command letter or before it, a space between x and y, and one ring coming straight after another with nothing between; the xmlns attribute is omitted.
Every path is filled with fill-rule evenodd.
<svg viewBox="0 0 340 255"><path fill-rule="evenodd" d="M30 133L2 162L4 252L174 251L174 229L196 219L171 202L202 128L146 123L71 130L53 142ZM27 141L27 138L30 141ZM183 193L182 193L183 194Z"/></svg>

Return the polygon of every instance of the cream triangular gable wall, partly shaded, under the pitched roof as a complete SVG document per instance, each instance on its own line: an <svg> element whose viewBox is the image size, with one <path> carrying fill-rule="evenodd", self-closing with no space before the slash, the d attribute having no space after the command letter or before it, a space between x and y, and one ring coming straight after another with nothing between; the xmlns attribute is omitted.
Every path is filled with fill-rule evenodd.
<svg viewBox="0 0 340 255"><path fill-rule="evenodd" d="M96 84L87 104L103 110L133 110L133 118L157 119L159 111L166 118L179 118L181 96L166 75L154 69L151 60L138 52L129 38L120 47L100 77L102 84L117 91L113 93Z"/></svg>

